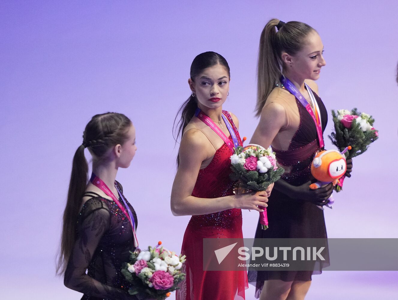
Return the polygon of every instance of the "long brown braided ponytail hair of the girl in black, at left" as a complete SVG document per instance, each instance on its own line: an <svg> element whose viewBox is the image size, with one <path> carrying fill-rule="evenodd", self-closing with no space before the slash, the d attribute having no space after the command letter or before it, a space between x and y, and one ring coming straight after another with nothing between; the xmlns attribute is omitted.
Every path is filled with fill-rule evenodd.
<svg viewBox="0 0 398 300"><path fill-rule="evenodd" d="M59 274L64 273L74 247L76 221L88 181L88 164L84 148L87 147L92 154L93 162L100 162L109 149L117 144L123 144L128 139L127 132L131 125L130 119L121 113L103 113L92 117L84 129L83 143L77 148L73 157L57 262Z"/></svg>

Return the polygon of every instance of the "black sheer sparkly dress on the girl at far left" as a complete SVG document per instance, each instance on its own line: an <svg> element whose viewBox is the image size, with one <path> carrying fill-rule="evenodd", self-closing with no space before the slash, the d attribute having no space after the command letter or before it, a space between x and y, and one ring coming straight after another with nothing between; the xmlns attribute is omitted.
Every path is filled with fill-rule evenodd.
<svg viewBox="0 0 398 300"><path fill-rule="evenodd" d="M122 191L121 185L116 184ZM135 300L135 296L128 294L129 286L121 273L122 264L129 260L129 251L135 249L130 221L112 200L92 192L85 196L91 198L78 216L76 242L64 284L84 293L82 300ZM128 205L137 228L137 215Z"/></svg>

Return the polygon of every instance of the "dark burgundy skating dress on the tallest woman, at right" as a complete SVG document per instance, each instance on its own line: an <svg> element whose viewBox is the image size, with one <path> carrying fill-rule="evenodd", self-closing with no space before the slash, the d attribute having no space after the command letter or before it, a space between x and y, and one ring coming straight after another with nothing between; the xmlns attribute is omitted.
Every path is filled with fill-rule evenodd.
<svg viewBox="0 0 398 300"><path fill-rule="evenodd" d="M315 93L322 121L322 132L328 122L325 105ZM295 132L289 148L281 151L273 148L279 164L291 167L281 179L299 186L310 180L311 163L319 150L318 135L314 121L305 107L296 99L300 115L300 125ZM267 215L269 228L262 230L258 224L255 238L327 238L323 210L308 201L289 198L284 193L273 189L268 198ZM322 265L316 264L314 271L249 271L249 282L256 285L258 298L264 281L280 279L283 281L310 281L311 275L322 272L322 267L329 265L329 257Z"/></svg>

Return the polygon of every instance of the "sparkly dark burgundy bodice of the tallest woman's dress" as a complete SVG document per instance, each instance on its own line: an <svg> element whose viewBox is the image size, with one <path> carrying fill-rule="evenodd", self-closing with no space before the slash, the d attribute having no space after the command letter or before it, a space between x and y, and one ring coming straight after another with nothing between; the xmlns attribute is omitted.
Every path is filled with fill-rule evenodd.
<svg viewBox="0 0 398 300"><path fill-rule="evenodd" d="M323 132L328 123L328 113L320 97L314 91L312 93L320 109ZM290 172L285 173L282 179L292 185L301 185L310 178L312 159L314 153L320 148L312 117L300 101L296 99L296 103L300 115L300 125L290 141L289 148L285 151L273 148L273 151L275 151L279 164L291 167Z"/></svg>

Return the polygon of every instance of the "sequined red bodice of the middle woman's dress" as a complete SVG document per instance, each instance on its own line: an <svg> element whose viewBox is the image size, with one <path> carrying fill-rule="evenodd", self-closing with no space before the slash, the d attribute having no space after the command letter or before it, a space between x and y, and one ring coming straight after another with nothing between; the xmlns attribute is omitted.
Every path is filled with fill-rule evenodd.
<svg viewBox="0 0 398 300"><path fill-rule="evenodd" d="M242 145L239 132L236 129L230 114L227 111L223 111L223 113L232 124L234 132L238 137L239 145ZM231 136L229 136L229 139L232 141ZM233 195L234 182L229 178L229 174L231 173L230 156L231 150L225 143L222 144L222 146L217 149L210 164L206 168L199 170L195 187L192 191L192 196L200 198L217 198ZM192 216L189 223L195 226L230 227L230 222L234 222L235 217L242 217L242 211L240 209L233 208L221 212L215 212L213 214Z"/></svg>

